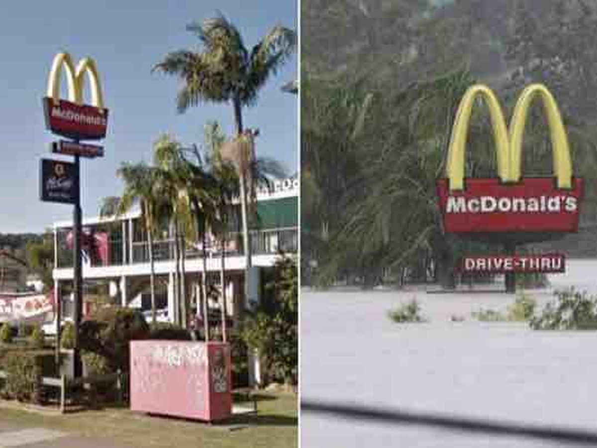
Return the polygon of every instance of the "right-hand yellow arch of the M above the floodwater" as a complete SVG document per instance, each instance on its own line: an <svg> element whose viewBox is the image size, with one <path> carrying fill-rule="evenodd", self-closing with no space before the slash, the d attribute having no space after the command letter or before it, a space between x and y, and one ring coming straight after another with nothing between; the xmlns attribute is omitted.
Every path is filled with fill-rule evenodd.
<svg viewBox="0 0 597 448"><path fill-rule="evenodd" d="M512 175L516 180L521 178L522 140L527 123L528 109L536 97L543 100L543 109L547 115L547 123L552 140L553 174L558 179L558 188L572 187L572 161L570 146L558 104L553 95L543 84L531 84L519 96L514 114L510 121L510 154Z"/></svg>

